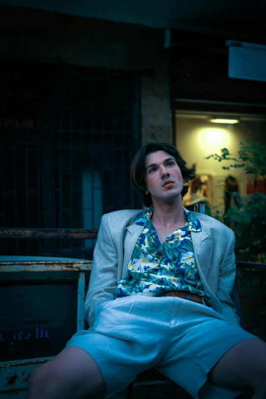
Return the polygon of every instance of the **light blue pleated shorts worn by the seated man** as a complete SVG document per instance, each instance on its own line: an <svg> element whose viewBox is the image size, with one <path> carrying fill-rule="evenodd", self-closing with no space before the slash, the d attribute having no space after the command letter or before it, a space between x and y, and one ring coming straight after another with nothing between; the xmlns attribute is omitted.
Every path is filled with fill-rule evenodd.
<svg viewBox="0 0 266 399"><path fill-rule="evenodd" d="M178 297L134 295L101 303L94 315L93 327L66 346L92 356L107 386L105 398L151 367L195 399L241 393L211 384L207 373L233 345L256 337L215 310Z"/></svg>

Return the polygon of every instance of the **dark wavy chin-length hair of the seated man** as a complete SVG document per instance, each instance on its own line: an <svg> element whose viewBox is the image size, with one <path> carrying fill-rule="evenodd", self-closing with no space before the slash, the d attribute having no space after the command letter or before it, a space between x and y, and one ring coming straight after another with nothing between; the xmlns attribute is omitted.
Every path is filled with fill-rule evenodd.
<svg viewBox="0 0 266 399"><path fill-rule="evenodd" d="M131 168L130 168L130 183L132 184L134 189L137 190L137 192L143 196L143 204L147 208L150 208L152 206L152 199L150 193L145 194L145 191L147 190L145 183L145 174L146 174L145 157L146 155L156 151L166 151L168 154L172 155L175 158L177 165L181 170L181 174L184 181L184 187L181 192L182 199L183 196L187 194L189 190L190 180L192 180L195 177L195 169L189 169L185 166L186 163L184 159L182 158L178 149L173 144L168 144L168 143L144 144L139 149L139 151L136 152L134 158L132 159Z"/></svg>

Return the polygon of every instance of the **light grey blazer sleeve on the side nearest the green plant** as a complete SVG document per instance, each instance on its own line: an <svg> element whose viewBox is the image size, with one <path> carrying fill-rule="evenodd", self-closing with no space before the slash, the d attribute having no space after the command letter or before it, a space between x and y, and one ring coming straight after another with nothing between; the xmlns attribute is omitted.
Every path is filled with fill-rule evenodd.
<svg viewBox="0 0 266 399"><path fill-rule="evenodd" d="M234 232L230 229L230 240L220 265L217 298L221 302L223 315L228 322L240 325L240 318L236 314L235 305L231 299L236 275L234 243Z"/></svg>

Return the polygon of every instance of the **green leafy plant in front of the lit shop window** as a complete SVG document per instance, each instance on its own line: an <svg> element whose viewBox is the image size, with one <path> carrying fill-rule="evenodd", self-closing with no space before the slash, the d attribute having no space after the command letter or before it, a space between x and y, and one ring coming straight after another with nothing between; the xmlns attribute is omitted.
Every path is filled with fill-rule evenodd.
<svg viewBox="0 0 266 399"><path fill-rule="evenodd" d="M247 174L255 174L264 183L266 175L266 146L249 140L241 143L238 158L227 148L220 154L211 154L218 162L232 161L223 169L244 168ZM266 263L266 195L263 184L254 187L252 193L241 197L234 193L236 205L225 215L216 211L215 218L230 226L235 233L235 254L238 260ZM247 330L266 339L265 270L238 270L238 295L243 309ZM256 306L254 306L256 303Z"/></svg>

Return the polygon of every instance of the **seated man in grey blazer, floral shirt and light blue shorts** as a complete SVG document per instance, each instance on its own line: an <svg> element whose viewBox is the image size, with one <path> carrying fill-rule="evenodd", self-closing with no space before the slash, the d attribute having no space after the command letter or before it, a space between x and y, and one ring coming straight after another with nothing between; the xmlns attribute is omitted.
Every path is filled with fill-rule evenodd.
<svg viewBox="0 0 266 399"><path fill-rule="evenodd" d="M137 152L131 183L149 209L102 217L90 328L33 372L28 399L110 397L151 367L193 398L266 397L266 343L238 325L230 299L234 234L182 207L193 176L173 145Z"/></svg>

